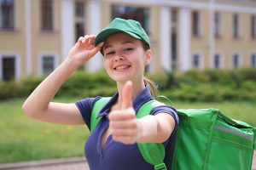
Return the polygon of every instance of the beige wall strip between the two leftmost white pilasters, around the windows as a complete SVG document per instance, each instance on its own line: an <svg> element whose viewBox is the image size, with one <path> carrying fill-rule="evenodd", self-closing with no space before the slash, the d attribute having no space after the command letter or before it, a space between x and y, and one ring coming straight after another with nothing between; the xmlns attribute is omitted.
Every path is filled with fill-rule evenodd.
<svg viewBox="0 0 256 170"><path fill-rule="evenodd" d="M61 1L54 1L54 31L41 30L40 1L32 1L32 72L38 74L42 54L55 54L61 61Z"/></svg>

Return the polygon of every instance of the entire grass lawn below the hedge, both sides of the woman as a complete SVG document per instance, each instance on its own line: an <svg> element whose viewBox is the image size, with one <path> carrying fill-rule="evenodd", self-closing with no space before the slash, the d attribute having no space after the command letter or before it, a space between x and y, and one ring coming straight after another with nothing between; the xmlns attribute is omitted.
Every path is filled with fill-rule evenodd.
<svg viewBox="0 0 256 170"><path fill-rule="evenodd" d="M61 99L75 101L76 99ZM83 156L89 132L85 126L38 122L21 111L24 99L0 102L0 163ZM226 116L256 127L256 101L221 103L174 102L178 109L218 108Z"/></svg>

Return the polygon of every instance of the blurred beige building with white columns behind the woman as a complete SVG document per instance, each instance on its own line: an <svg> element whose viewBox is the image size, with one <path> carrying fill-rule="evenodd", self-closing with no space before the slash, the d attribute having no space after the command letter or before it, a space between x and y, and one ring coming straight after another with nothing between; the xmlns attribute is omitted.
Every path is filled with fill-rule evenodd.
<svg viewBox="0 0 256 170"><path fill-rule="evenodd" d="M255 0L0 0L0 80L48 74L114 17L148 32L148 71L256 67ZM101 68L97 54L80 69Z"/></svg>

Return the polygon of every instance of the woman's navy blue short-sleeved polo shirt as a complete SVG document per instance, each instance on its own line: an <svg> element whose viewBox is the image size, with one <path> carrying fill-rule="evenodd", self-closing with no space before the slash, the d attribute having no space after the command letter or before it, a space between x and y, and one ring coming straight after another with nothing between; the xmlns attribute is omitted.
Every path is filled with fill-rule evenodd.
<svg viewBox="0 0 256 170"><path fill-rule="evenodd" d="M110 134L104 147L101 147L102 135L107 130L109 125L108 113L113 103L116 101L116 99L118 99L118 96L118 93L114 94L113 97L108 101L108 104L102 108L102 111L99 113L99 116L102 116L102 119L97 124L95 130L90 134L86 144L84 145L84 153L90 170L152 170L154 167L148 164L148 162L144 161L137 144L122 144L116 142L112 139L112 135ZM92 105L98 99L101 99L101 97L86 98L75 103L78 106L88 128L90 128ZM137 98L134 99L134 110L137 112L139 108L150 99L153 99L153 97L150 94L149 88L146 87L137 96ZM163 143L166 149L166 157L164 161L167 169L171 169L178 117L177 111L168 105L155 107L150 112L150 115L156 115L162 112L170 114L176 122L172 135L166 140L166 142Z"/></svg>

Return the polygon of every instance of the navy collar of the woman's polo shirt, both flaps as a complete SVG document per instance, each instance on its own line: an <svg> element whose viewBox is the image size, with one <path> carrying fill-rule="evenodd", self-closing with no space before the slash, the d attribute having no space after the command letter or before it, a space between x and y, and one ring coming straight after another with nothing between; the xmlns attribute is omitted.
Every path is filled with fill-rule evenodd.
<svg viewBox="0 0 256 170"><path fill-rule="evenodd" d="M111 99L109 99L107 105L105 105L102 108L102 111L100 111L99 116L107 116L110 111L110 107L118 99L118 97L119 97L119 93L113 94L113 97ZM153 97L150 93L148 85L146 85L146 87L143 89L143 91L140 94L138 94L136 99L134 99L132 102L134 111L137 113L139 108L150 99L153 99Z"/></svg>

